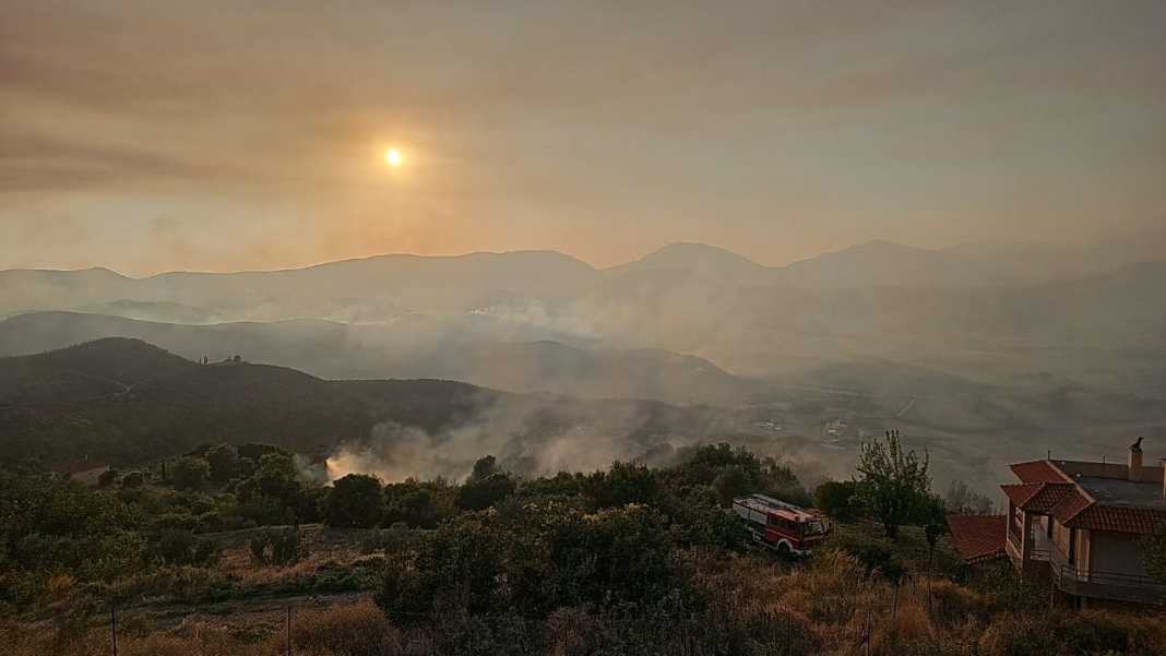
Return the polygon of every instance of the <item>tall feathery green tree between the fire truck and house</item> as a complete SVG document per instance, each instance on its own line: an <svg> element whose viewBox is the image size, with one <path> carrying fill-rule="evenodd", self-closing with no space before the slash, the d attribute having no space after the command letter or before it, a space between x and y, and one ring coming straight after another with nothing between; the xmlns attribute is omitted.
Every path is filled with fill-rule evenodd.
<svg viewBox="0 0 1166 656"><path fill-rule="evenodd" d="M899 525L911 522L928 499L932 481L927 474L927 452L920 457L904 450L899 431L887 431L886 438L874 438L858 446L858 499L886 531L899 534Z"/></svg>

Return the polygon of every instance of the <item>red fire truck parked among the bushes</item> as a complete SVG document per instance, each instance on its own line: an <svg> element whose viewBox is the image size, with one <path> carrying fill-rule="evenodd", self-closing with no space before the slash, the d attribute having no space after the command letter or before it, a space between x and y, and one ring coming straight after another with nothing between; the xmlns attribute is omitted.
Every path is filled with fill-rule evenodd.
<svg viewBox="0 0 1166 656"><path fill-rule="evenodd" d="M745 520L754 543L782 556L807 556L830 532L819 515L764 494L738 496L732 509Z"/></svg>

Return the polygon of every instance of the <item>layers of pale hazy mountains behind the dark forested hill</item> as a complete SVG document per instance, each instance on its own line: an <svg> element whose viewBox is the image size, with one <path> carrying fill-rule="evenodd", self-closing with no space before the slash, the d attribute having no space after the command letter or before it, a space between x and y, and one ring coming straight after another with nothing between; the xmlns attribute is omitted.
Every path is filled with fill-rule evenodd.
<svg viewBox="0 0 1166 656"><path fill-rule="evenodd" d="M1040 366L1124 381L1133 379L1123 348L1145 350L1145 362L1166 353L1166 263L1144 260L1161 256L1156 239L946 249L876 240L786 267L674 244L606 269L518 252L140 280L0 271L0 317L10 317L0 350L139 337L191 358L238 351L328 378L684 403L739 400L742 376L852 357L967 365L974 354L1031 369L1041 353L1075 350L1088 358ZM1139 367L1137 380L1158 389L1159 379Z"/></svg>

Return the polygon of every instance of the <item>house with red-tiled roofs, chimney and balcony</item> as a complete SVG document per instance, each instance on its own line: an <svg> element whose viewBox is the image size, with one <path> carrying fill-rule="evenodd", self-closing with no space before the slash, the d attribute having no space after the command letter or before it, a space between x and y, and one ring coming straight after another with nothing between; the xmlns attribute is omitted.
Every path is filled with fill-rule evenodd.
<svg viewBox="0 0 1166 656"><path fill-rule="evenodd" d="M1166 583L1143 559L1144 536L1166 523L1166 466L1143 464L1142 438L1124 465L1045 459L1011 468L1019 482L1000 486L1007 515L978 525L948 519L965 563L1003 552L1023 574L1047 572L1082 606L1166 600Z"/></svg>

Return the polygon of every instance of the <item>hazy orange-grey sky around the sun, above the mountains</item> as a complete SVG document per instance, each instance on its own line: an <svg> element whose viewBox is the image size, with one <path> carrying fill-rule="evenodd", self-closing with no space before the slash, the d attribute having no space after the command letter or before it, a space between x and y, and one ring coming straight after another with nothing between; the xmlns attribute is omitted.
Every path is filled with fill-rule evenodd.
<svg viewBox="0 0 1166 656"><path fill-rule="evenodd" d="M1164 35L1161 0L0 0L0 268L1163 225Z"/></svg>

